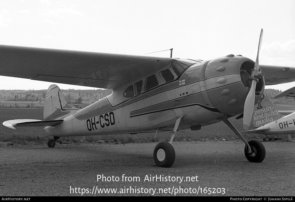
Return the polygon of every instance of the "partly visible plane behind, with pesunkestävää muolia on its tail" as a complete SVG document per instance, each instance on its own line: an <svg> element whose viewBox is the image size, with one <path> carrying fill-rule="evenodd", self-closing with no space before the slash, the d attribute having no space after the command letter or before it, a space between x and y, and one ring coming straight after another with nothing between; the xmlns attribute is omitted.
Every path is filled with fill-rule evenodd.
<svg viewBox="0 0 295 202"><path fill-rule="evenodd" d="M294 97L294 94L295 88L292 87L273 98ZM290 111L286 113L290 113ZM295 133L295 112L293 111L293 113L283 116L263 95L258 102L257 110L255 109L253 112L253 124L257 127L256 129L242 131L241 133L258 133L265 134L266 136L273 134L292 134ZM266 139L267 137L263 140Z"/></svg>

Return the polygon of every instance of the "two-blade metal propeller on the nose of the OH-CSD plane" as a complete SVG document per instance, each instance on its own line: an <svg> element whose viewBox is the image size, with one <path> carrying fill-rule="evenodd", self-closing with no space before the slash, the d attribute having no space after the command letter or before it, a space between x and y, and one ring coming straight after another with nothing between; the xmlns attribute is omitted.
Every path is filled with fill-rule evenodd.
<svg viewBox="0 0 295 202"><path fill-rule="evenodd" d="M261 48L261 43L262 43L262 35L263 35L263 29L261 29L260 32L260 38L259 38L259 45L258 45L258 52L257 52L257 58L254 64L254 69L251 70L251 75L250 75L250 81L251 81L251 86L249 93L247 95L245 105L244 105L244 117L243 117L243 126L245 130L248 130L250 127L250 123L252 120L252 115L253 115L253 110L254 110L254 105L255 105L255 89L256 89L256 84L258 82L258 79L264 75L263 71L259 71L259 52Z"/></svg>

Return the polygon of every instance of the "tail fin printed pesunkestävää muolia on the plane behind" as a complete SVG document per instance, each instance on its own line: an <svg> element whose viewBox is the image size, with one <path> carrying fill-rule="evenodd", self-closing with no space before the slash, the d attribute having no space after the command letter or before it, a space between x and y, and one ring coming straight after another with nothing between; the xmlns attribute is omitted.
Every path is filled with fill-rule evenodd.
<svg viewBox="0 0 295 202"><path fill-rule="evenodd" d="M256 128L278 120L281 115L265 94L262 94L253 111L253 124Z"/></svg>

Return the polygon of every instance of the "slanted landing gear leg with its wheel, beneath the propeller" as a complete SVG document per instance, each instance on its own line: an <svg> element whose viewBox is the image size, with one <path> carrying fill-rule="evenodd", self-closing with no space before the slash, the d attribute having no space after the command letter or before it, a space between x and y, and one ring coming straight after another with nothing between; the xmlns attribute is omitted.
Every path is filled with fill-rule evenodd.
<svg viewBox="0 0 295 202"><path fill-rule="evenodd" d="M235 128L229 120L225 119L223 122L234 131L234 133L243 141L245 142L245 156L250 162L262 162L265 158L265 147L260 141L257 140L250 140L247 142L245 138L241 135L241 133Z"/></svg>

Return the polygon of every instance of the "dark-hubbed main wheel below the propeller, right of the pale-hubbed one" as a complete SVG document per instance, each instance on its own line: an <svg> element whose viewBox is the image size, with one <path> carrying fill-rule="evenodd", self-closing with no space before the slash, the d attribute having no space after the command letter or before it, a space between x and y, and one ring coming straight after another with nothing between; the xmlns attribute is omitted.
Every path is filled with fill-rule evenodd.
<svg viewBox="0 0 295 202"><path fill-rule="evenodd" d="M250 140L248 142L250 148L252 150L251 154L248 154L248 146L245 145L245 156L250 162L260 163L265 158L265 147L260 141L257 140Z"/></svg>

